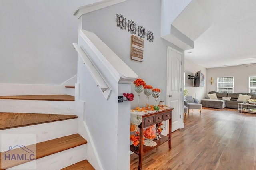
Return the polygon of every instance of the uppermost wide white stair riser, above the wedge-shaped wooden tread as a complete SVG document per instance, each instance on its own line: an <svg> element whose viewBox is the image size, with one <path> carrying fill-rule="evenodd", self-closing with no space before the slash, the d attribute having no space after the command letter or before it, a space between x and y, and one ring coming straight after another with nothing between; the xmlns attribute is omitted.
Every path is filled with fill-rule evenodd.
<svg viewBox="0 0 256 170"><path fill-rule="evenodd" d="M74 115L74 101L0 99L0 112Z"/></svg>

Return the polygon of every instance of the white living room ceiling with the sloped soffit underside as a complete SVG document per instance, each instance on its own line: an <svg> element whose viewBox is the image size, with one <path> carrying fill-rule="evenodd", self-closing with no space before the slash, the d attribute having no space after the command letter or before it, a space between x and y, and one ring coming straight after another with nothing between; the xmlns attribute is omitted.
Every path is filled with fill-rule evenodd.
<svg viewBox="0 0 256 170"><path fill-rule="evenodd" d="M198 65L256 63L256 0L192 0L172 25L194 41L185 59Z"/></svg>

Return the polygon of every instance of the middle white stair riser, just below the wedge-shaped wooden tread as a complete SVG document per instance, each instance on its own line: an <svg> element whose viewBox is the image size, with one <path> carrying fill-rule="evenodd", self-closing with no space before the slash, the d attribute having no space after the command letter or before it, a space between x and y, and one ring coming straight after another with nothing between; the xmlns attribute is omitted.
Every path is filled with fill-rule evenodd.
<svg viewBox="0 0 256 170"><path fill-rule="evenodd" d="M76 133L78 133L78 118L0 130L0 141L3 141L1 134L36 134L36 142L22 142L22 144L35 144Z"/></svg>

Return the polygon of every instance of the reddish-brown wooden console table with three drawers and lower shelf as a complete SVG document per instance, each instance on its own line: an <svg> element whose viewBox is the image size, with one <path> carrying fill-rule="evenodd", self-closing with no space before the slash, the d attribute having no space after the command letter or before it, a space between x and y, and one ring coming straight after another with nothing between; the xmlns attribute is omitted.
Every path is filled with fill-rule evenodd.
<svg viewBox="0 0 256 170"><path fill-rule="evenodd" d="M134 152L135 154L137 154L139 156L139 166L138 166L138 170L142 169L142 156L143 154L146 154L147 152L150 152L151 150L153 150L154 148L157 148L158 146L160 146L161 144L165 143L165 142L169 142L169 148L172 148L172 110L173 108L168 108L165 110L160 110L160 111L156 111L154 113L147 113L142 115L142 122L141 124L138 126L140 128L140 144L139 144L139 148L138 150L134 150L134 146L131 145L130 146L130 151ZM166 121L169 120L169 135L168 136L163 136L161 135L162 138L160 138L159 140L154 139L154 141L156 142L156 146L153 147L149 147L149 146L143 146L142 144L142 140L143 140L143 128L148 127L150 125L154 125L154 124L158 124L162 121Z"/></svg>

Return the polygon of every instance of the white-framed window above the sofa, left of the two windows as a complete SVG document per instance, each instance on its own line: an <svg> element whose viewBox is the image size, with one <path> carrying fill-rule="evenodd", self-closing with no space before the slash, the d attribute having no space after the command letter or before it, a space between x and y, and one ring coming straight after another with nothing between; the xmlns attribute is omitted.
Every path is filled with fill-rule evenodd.
<svg viewBox="0 0 256 170"><path fill-rule="evenodd" d="M218 92L234 92L234 77L218 77Z"/></svg>

